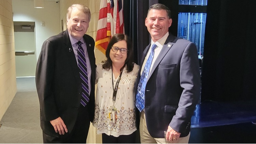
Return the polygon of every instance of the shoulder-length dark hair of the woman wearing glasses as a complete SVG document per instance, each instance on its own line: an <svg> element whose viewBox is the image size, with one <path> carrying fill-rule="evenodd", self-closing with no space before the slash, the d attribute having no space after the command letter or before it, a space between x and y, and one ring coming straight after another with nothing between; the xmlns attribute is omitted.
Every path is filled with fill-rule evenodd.
<svg viewBox="0 0 256 144"><path fill-rule="evenodd" d="M125 60L125 65L126 65L126 69L127 69L127 73L131 72L133 69L133 50L132 50L132 42L130 40L130 38L127 35L124 34L115 34L114 36L112 36L112 38L110 39L110 42L107 45L107 49L106 49L106 58L107 60L102 61L103 65L102 68L109 70L112 66L112 61L110 59L110 50L111 47L117 43L118 41L121 40L125 40L127 43L127 58ZM124 68L125 65L122 67ZM121 69L120 69L121 70Z"/></svg>

